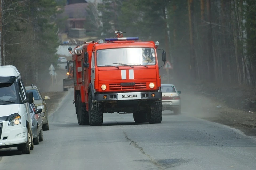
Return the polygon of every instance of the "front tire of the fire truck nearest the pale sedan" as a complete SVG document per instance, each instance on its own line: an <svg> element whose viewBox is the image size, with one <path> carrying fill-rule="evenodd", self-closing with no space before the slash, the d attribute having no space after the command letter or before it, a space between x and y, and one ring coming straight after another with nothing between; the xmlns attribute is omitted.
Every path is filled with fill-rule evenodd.
<svg viewBox="0 0 256 170"><path fill-rule="evenodd" d="M150 105L148 119L149 123L161 123L162 122L162 102L154 102Z"/></svg>

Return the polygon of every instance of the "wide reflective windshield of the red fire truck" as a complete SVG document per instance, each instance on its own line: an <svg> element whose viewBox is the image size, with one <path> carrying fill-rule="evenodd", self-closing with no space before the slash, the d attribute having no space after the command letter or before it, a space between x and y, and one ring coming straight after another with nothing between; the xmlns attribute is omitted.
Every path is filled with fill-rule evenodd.
<svg viewBox="0 0 256 170"><path fill-rule="evenodd" d="M154 48L112 48L97 50L97 66L155 65ZM118 64L113 64L118 63Z"/></svg>

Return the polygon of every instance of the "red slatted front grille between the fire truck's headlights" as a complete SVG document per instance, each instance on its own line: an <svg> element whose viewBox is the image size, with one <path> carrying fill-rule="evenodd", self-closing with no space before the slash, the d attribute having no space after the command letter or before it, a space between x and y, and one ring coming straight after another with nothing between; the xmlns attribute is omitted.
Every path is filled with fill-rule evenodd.
<svg viewBox="0 0 256 170"><path fill-rule="evenodd" d="M147 89L147 83L135 83L131 86L131 84L121 85L121 83L113 83L109 84L109 90L142 90Z"/></svg>

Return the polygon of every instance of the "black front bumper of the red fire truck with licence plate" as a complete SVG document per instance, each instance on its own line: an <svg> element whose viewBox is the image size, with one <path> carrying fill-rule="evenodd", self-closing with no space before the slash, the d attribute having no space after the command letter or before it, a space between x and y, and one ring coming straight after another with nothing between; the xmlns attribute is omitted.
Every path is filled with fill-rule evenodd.
<svg viewBox="0 0 256 170"><path fill-rule="evenodd" d="M154 94L154 97L152 96ZM106 99L103 96L107 96ZM162 92L125 92L125 93L101 93L96 94L96 100L103 101L118 101L118 100L157 100L162 99Z"/></svg>

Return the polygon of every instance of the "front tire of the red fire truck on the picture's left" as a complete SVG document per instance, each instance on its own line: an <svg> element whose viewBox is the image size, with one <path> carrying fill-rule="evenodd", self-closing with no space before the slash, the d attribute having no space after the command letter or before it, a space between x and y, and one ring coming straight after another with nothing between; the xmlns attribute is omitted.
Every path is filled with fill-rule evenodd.
<svg viewBox="0 0 256 170"><path fill-rule="evenodd" d="M102 105L93 106L92 96L89 93L88 107L89 107L89 122L91 126L101 126L103 124L103 109Z"/></svg>

